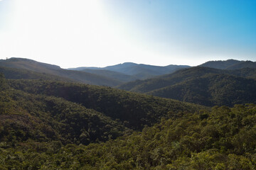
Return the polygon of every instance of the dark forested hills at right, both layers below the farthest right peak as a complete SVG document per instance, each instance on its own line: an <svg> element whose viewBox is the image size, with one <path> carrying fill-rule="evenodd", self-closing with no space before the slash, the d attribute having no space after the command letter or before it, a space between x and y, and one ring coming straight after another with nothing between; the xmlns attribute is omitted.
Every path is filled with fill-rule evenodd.
<svg viewBox="0 0 256 170"><path fill-rule="evenodd" d="M155 79L128 82L117 88L205 106L233 106L256 101L256 79L247 79L255 75L256 69L193 67Z"/></svg>

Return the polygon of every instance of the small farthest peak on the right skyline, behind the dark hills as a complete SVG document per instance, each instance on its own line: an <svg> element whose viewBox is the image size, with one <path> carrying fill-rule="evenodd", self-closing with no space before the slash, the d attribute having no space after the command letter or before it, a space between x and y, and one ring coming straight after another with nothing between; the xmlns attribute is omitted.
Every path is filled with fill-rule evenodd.
<svg viewBox="0 0 256 170"><path fill-rule="evenodd" d="M210 61L199 65L199 67L210 67L215 69L243 69L243 68L256 68L256 62L251 61L238 61L238 60L218 60Z"/></svg>

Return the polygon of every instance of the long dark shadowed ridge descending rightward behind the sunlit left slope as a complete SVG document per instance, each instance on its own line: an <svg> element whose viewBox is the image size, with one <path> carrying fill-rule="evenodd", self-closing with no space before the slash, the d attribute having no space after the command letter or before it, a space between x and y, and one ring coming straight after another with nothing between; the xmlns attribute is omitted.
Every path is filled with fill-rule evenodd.
<svg viewBox="0 0 256 170"><path fill-rule="evenodd" d="M196 111L200 106L170 99L135 94L110 87L57 81L8 80L9 86L29 94L55 96L80 103L110 118L121 120L127 128L140 130L154 125L161 117L180 116L182 112Z"/></svg>

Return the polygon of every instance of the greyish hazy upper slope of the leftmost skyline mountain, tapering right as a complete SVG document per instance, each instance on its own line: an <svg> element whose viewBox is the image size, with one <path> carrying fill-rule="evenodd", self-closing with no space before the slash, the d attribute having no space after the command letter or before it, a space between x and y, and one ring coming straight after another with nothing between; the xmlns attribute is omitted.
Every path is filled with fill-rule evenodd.
<svg viewBox="0 0 256 170"><path fill-rule="evenodd" d="M13 69L21 69L20 72L25 70L32 72L38 72L41 74L51 74L55 77L62 77L62 79L70 79L75 82L85 84L95 84L100 86L117 86L122 81L116 79L110 79L99 74L91 74L87 72L78 72L73 70L61 69L58 66L52 64L45 64L36 62L34 60L22 59L22 58L11 58L8 60L0 60L0 67L9 67ZM28 73L28 72L27 72ZM34 73L33 73L34 74ZM16 77L15 74L13 74ZM9 75L8 77L11 78ZM11 78L12 79L12 78Z"/></svg>

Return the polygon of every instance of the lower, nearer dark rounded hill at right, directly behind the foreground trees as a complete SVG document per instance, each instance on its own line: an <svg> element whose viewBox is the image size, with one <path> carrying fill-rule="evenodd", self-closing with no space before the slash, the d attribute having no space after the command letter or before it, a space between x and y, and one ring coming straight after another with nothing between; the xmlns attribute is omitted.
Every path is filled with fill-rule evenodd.
<svg viewBox="0 0 256 170"><path fill-rule="evenodd" d="M210 74L147 94L204 106L234 106L238 103L255 103L256 81L225 74Z"/></svg>

